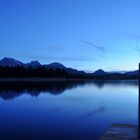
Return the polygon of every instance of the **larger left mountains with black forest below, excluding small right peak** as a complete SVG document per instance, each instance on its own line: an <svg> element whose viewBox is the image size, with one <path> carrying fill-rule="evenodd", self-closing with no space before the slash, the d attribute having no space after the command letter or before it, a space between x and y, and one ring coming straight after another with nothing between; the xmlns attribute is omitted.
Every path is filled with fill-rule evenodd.
<svg viewBox="0 0 140 140"><path fill-rule="evenodd" d="M88 78L90 76L84 71L67 68L57 62L45 65L38 61L22 63L8 57L0 60L0 67L0 77Z"/></svg>

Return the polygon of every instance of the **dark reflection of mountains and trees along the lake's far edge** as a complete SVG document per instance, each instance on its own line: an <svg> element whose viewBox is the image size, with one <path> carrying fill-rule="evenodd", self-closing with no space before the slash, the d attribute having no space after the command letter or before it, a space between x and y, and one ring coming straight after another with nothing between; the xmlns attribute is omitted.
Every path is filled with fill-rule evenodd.
<svg viewBox="0 0 140 140"><path fill-rule="evenodd" d="M62 94L65 90L93 84L98 88L105 85L125 85L138 86L138 81L49 81L49 82L0 82L0 98L4 100L14 99L22 94L29 94L38 97L41 93L50 93L52 95Z"/></svg>

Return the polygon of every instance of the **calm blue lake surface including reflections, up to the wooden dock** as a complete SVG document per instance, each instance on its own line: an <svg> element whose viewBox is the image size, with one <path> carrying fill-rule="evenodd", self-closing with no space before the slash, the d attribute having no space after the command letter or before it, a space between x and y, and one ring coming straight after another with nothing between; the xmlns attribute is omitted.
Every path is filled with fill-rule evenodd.
<svg viewBox="0 0 140 140"><path fill-rule="evenodd" d="M137 124L137 81L0 83L0 140L98 140Z"/></svg>

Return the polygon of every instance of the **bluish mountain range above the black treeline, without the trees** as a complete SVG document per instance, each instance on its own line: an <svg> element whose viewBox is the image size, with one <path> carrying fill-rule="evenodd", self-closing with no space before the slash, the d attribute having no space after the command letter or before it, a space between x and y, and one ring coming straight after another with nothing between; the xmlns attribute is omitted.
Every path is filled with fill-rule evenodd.
<svg viewBox="0 0 140 140"><path fill-rule="evenodd" d="M0 66L2 67L6 67L6 66L9 66L9 67L16 67L16 66L22 66L22 67L32 67L32 68L37 68L37 67L40 67L40 66L44 66L45 68L51 68L51 69L65 69L66 71L68 71L69 73L72 73L72 74L82 74L82 75L86 75L86 74L89 74L89 73L86 73L84 71L78 71L76 69L73 69L73 68L68 68L68 67L65 67L63 64L61 63L51 63L51 64L40 64L38 61L31 61L30 63L23 63L23 62L20 62L14 58L8 58L8 57L5 57L3 58L2 60L0 60ZM93 73L91 73L91 75L94 75L94 76L108 76L108 75L125 75L125 76L137 76L139 74L139 71L136 70L136 71L131 71L131 72L125 72L125 73L119 73L119 72L105 72L104 70L102 69L99 69Z"/></svg>

